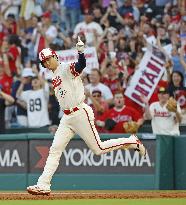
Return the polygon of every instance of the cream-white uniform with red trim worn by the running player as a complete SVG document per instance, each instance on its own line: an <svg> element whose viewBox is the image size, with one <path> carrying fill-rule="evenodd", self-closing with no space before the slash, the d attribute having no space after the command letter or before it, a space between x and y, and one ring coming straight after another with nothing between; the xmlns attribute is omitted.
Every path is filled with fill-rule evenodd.
<svg viewBox="0 0 186 205"><path fill-rule="evenodd" d="M54 71L52 78L55 95L64 110L72 111L64 114L55 133L49 156L42 175L37 185L50 188L50 181L56 171L62 152L74 134L78 134L97 155L119 149L124 145L136 144L136 140L130 138L111 139L102 142L94 125L92 108L84 103L84 87L75 70L75 63L61 63ZM76 108L77 111L73 111Z"/></svg>

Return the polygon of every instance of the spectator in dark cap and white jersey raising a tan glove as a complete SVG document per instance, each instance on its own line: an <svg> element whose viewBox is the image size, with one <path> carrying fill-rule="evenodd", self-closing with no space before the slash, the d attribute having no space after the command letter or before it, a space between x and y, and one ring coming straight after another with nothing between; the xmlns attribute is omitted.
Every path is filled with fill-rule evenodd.
<svg viewBox="0 0 186 205"><path fill-rule="evenodd" d="M144 100L145 106L145 118L151 119L153 134L162 135L180 135L179 124L181 122L181 109L177 105L176 112L170 112L167 110L166 105L169 99L168 89L160 87L158 92L158 102L154 102L148 105L148 102Z"/></svg>

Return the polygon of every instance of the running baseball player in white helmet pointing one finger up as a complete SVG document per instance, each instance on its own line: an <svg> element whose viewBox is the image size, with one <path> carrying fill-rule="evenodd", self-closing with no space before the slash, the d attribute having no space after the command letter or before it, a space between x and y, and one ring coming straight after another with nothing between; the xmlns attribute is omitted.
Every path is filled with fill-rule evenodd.
<svg viewBox="0 0 186 205"><path fill-rule="evenodd" d="M27 187L27 191L34 195L49 195L50 182L55 173L62 152L70 139L78 134L88 147L96 154L110 152L117 149L136 149L145 156L146 149L135 135L129 138L111 139L102 142L94 125L92 108L84 103L84 87L80 74L86 67L84 57L84 43L78 37L76 44L78 62L61 63L55 51L45 48L39 53L39 59L44 67L53 72L52 84L58 102L64 112L58 129L55 133L49 156L37 185Z"/></svg>

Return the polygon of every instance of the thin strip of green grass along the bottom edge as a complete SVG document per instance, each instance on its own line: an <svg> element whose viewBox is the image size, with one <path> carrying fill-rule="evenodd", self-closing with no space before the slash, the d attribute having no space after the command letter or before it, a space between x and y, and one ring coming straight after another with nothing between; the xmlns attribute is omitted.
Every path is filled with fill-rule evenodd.
<svg viewBox="0 0 186 205"><path fill-rule="evenodd" d="M6 200L0 205L186 205L186 199Z"/></svg>

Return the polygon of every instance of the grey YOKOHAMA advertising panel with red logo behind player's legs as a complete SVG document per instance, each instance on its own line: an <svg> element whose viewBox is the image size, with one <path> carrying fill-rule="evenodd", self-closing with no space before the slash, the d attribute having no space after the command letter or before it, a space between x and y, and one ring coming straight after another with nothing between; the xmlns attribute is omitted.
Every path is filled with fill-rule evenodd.
<svg viewBox="0 0 186 205"><path fill-rule="evenodd" d="M116 150L96 156L82 140L72 140L62 154L56 173L86 174L154 174L155 140L143 140L148 149L146 158L133 150ZM31 173L42 172L51 141L31 140L29 147Z"/></svg>

